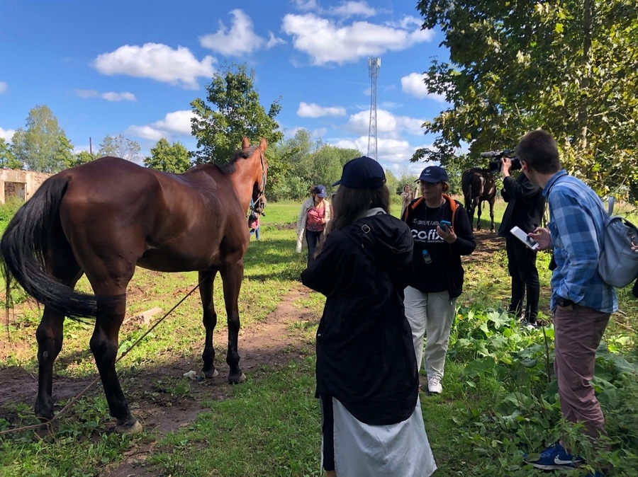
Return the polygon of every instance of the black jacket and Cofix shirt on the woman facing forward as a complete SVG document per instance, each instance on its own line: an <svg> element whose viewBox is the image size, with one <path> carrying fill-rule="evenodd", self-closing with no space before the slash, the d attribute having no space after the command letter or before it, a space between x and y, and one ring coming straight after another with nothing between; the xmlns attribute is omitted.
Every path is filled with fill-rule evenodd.
<svg viewBox="0 0 638 477"><path fill-rule="evenodd" d="M414 240L413 274L408 285L424 293L449 292L449 298L458 297L463 291L464 271L461 255L469 255L476 248L474 233L466 210L459 201L444 196L446 202L441 207L427 207L425 200L414 200L406 207L405 223L410 226ZM452 222L451 201L454 201L454 243L443 241L436 233L441 220ZM427 251L430 263L423 258Z"/></svg>

